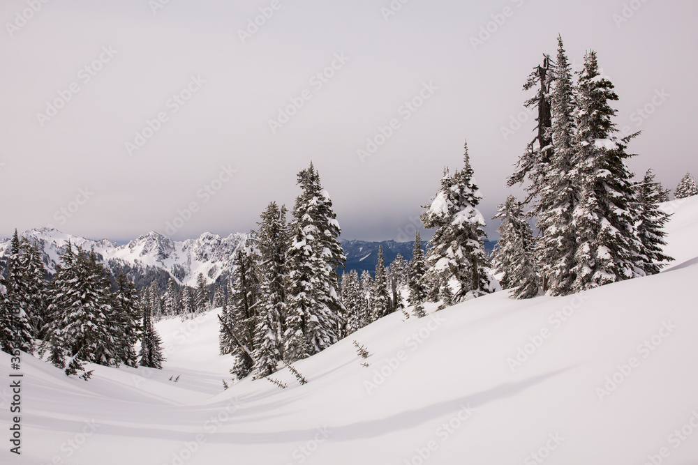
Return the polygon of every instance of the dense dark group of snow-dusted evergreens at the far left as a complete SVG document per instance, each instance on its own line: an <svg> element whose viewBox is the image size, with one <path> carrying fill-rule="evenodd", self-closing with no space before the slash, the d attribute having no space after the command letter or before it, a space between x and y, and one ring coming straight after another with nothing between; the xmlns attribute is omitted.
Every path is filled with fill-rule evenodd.
<svg viewBox="0 0 698 465"><path fill-rule="evenodd" d="M142 326L133 282L119 274L112 285L96 254L70 243L50 280L36 243L20 241L15 231L9 249L6 276L0 275L3 351L48 350L68 375L84 372L86 362L138 366L134 346Z"/></svg>

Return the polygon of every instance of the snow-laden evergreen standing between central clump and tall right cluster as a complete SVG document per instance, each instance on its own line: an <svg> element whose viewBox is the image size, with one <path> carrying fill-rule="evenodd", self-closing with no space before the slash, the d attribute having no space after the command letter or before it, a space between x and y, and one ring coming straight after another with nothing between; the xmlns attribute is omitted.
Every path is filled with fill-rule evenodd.
<svg viewBox="0 0 698 465"><path fill-rule="evenodd" d="M484 250L485 221L476 208L482 195L473 178L467 144L463 161L463 169L453 175L445 170L436 197L421 215L424 227L436 229L426 261L431 271L455 278L459 284L456 300L491 291Z"/></svg>

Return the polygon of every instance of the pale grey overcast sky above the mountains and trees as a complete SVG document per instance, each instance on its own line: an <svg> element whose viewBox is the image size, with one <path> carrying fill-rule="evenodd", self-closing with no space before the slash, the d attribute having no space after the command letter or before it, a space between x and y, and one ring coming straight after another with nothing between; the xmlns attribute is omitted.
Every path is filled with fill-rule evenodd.
<svg viewBox="0 0 698 465"><path fill-rule="evenodd" d="M312 160L344 238L406 240L464 139L491 218L533 137L511 124L521 86L558 33L577 67L597 50L616 122L643 131L631 169L674 188L698 174L698 2L626 3L3 0L0 236L248 231Z"/></svg>

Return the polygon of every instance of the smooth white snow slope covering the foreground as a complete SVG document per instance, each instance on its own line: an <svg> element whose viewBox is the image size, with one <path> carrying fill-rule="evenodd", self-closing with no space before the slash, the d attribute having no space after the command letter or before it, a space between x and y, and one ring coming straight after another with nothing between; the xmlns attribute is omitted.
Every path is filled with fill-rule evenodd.
<svg viewBox="0 0 698 465"><path fill-rule="evenodd" d="M303 386L284 368L272 377L288 388L223 390L219 310L157 324L163 370L90 365L85 382L25 354L22 455L8 452L0 388L0 463L697 464L698 197L671 208L676 261L659 275L562 298L498 292L424 319L396 312L295 363ZM2 379L12 371L0 353Z"/></svg>

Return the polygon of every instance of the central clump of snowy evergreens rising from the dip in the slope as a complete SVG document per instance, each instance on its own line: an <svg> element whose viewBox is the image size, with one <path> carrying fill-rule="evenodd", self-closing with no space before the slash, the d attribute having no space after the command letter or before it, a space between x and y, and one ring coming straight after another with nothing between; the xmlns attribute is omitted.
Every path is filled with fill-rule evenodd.
<svg viewBox="0 0 698 465"><path fill-rule="evenodd" d="M312 163L297 179L292 221L272 202L237 252L220 343L221 353L237 356L231 372L239 378L327 349L352 319L340 298L336 270L346 257L332 200Z"/></svg>

